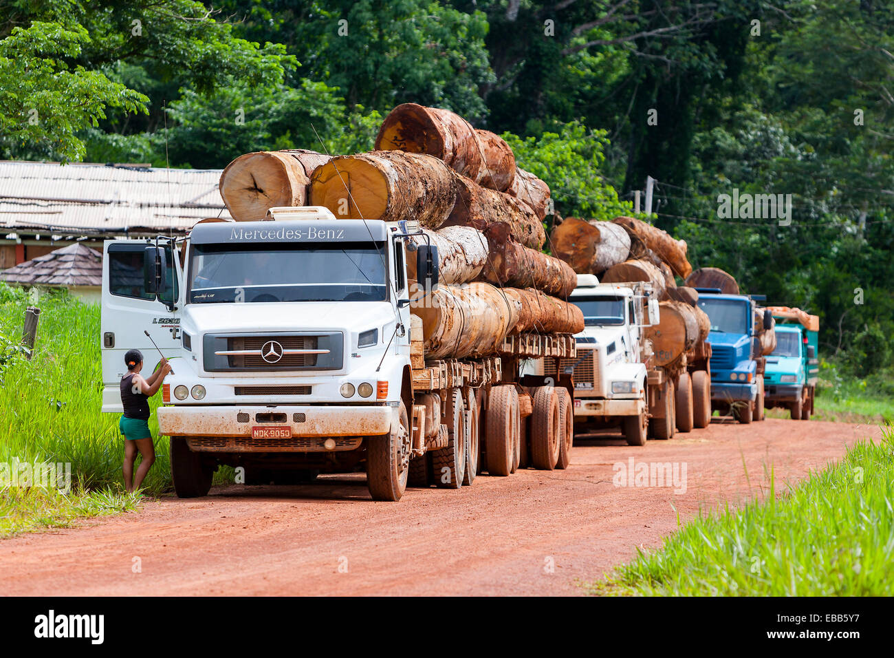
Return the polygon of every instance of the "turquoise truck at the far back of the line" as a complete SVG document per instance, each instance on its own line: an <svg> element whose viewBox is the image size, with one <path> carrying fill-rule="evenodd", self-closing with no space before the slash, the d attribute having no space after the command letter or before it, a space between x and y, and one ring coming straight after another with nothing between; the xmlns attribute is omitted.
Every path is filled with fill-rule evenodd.
<svg viewBox="0 0 894 658"><path fill-rule="evenodd" d="M787 306L772 306L770 312L776 319L776 349L766 357L763 404L789 409L792 420L809 420L819 377L820 319Z"/></svg>

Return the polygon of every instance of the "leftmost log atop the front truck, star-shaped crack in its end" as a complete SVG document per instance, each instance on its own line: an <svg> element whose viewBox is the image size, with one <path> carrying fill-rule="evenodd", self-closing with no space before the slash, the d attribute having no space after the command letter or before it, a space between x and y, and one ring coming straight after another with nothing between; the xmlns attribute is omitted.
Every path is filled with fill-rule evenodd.
<svg viewBox="0 0 894 658"><path fill-rule="evenodd" d="M303 206L314 169L330 159L312 150L246 153L221 174L223 202L236 221L264 219L276 206Z"/></svg>

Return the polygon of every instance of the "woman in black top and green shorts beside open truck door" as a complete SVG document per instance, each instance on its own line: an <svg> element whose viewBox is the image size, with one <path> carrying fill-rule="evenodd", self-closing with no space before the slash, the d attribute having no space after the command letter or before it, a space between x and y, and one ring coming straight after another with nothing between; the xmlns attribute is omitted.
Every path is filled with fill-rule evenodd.
<svg viewBox="0 0 894 658"><path fill-rule="evenodd" d="M143 355L139 349L131 349L124 355L127 374L121 380L121 403L124 415L118 423L124 435L124 488L128 492L137 491L139 485L156 460L156 449L152 445L152 434L149 432L149 397L154 396L161 388L164 377L171 372L171 365L162 358L161 367L148 378L139 371L143 369ZM137 450L143 456L133 473L133 462L137 458Z"/></svg>

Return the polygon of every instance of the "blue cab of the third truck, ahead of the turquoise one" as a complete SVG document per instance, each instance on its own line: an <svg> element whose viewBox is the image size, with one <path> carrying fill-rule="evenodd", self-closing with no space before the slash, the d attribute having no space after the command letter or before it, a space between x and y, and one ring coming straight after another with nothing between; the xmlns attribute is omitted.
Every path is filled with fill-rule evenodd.
<svg viewBox="0 0 894 658"><path fill-rule="evenodd" d="M763 420L764 359L757 340L772 329L769 311L757 311L758 295L723 295L719 288L696 288L698 306L711 320L711 408L732 413L739 423Z"/></svg>

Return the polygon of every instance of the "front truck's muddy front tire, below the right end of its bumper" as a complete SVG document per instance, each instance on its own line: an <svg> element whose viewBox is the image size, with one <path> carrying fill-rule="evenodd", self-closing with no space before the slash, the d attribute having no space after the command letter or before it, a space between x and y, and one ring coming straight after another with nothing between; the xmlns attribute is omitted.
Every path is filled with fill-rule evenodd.
<svg viewBox="0 0 894 658"><path fill-rule="evenodd" d="M409 418L401 400L400 423L382 436L367 437L367 489L373 500L397 502L409 476Z"/></svg>

